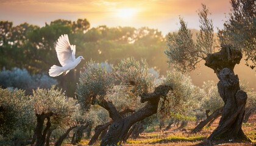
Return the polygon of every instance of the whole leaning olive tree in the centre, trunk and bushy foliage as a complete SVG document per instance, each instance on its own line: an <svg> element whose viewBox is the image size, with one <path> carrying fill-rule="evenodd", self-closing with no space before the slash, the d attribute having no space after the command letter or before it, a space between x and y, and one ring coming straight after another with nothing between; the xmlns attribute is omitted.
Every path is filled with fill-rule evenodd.
<svg viewBox="0 0 256 146"><path fill-rule="evenodd" d="M118 142L125 141L133 125L158 111L170 114L183 106L189 108L190 104L186 102L191 99L194 88L190 87L182 92L180 86L190 86L187 83L191 81L190 78L183 77L181 73L177 73L176 77L171 72L168 74L163 82L154 84L144 60L121 60L113 66L111 72L94 66L93 61L87 63L80 76L76 94L84 109L99 105L108 111L112 119L106 125L101 125L110 125L101 145L117 145ZM177 83L172 83L174 80ZM129 113L124 115L126 111Z"/></svg>

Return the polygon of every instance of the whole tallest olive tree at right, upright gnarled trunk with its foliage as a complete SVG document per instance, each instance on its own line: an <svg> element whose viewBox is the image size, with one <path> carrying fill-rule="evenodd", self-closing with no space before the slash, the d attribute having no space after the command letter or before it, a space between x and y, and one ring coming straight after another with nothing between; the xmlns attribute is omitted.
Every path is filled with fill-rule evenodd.
<svg viewBox="0 0 256 146"><path fill-rule="evenodd" d="M251 141L241 129L247 94L240 89L238 75L233 69L235 64L240 63L243 52L247 57L247 52L255 57L255 47L250 47L255 46L255 2L232 0L231 4L230 19L224 24L224 30L219 31L221 47L218 52L215 52L213 24L208 19L209 12L205 5L199 11L201 26L196 42L191 40L191 32L183 19L180 19L179 32L166 36L168 49L165 53L169 63L174 63L177 69L186 72L196 68L199 61L205 60L205 66L212 68L219 78L217 86L224 101L224 109L219 126L208 137L209 141ZM248 27L249 31L240 31L239 26ZM252 38L243 37L247 34Z"/></svg>

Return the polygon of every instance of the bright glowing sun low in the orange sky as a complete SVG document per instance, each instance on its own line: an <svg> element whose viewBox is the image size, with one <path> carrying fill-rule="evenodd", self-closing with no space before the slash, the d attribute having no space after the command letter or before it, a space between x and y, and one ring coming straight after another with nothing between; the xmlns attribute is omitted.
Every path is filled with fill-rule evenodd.
<svg viewBox="0 0 256 146"><path fill-rule="evenodd" d="M135 16L136 13L137 13L137 10L133 8L122 8L122 9L116 10L116 15L118 16L118 18L122 18L122 19L133 18L133 16Z"/></svg>

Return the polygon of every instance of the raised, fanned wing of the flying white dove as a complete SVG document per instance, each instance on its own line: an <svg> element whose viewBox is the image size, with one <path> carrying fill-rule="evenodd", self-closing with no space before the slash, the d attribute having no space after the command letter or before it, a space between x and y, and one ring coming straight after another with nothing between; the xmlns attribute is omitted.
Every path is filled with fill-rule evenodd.
<svg viewBox="0 0 256 146"><path fill-rule="evenodd" d="M76 46L69 43L68 35L60 36L55 44L55 50L62 66L72 63L76 59Z"/></svg>

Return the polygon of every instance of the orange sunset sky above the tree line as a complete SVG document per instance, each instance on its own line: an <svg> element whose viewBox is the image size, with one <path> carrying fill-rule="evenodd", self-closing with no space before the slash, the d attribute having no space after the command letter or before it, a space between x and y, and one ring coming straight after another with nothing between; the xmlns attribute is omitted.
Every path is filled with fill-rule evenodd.
<svg viewBox="0 0 256 146"><path fill-rule="evenodd" d="M179 29L179 15L189 22L188 27L198 29L196 11L202 3L212 12L214 26L222 28L224 13L230 12L229 0L0 0L0 19L14 25L27 22L44 26L60 18L87 18L91 27L148 26L165 35ZM132 15L127 16L129 12L123 9L132 9Z"/></svg>

